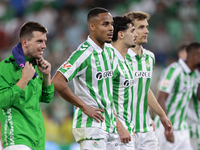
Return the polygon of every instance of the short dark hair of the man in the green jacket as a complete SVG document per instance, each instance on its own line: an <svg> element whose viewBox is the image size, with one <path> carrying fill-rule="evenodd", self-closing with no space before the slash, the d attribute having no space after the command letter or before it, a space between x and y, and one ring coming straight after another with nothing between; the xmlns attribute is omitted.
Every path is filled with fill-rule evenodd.
<svg viewBox="0 0 200 150"><path fill-rule="evenodd" d="M34 21L28 21L24 23L19 31L19 39L20 41L22 38L26 38L27 40L31 40L33 38L33 31L39 31L42 33L48 33L48 30L46 27L41 25L38 22Z"/></svg>

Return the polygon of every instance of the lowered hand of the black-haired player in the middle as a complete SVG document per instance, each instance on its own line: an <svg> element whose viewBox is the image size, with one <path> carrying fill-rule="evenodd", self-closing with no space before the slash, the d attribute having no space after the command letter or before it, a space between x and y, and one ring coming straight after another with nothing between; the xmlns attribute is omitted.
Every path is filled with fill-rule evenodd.
<svg viewBox="0 0 200 150"><path fill-rule="evenodd" d="M128 143L129 141L131 141L130 133L124 127L124 125L121 122L119 122L119 119L117 119L117 130L122 143Z"/></svg>

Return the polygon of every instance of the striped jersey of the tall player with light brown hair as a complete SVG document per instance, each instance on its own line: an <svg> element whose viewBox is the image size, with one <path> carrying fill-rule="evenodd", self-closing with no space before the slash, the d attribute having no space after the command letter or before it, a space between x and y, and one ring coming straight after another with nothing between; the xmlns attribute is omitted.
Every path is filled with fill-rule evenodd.
<svg viewBox="0 0 200 150"><path fill-rule="evenodd" d="M148 111L148 92L155 65L154 54L142 48L141 57L131 49L128 50L126 59L132 69L133 85L133 120L135 132L152 130L151 119Z"/></svg>

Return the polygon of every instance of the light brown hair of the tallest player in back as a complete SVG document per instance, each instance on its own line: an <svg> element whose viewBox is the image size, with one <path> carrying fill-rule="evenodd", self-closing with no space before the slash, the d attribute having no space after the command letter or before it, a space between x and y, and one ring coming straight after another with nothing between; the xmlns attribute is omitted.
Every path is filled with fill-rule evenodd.
<svg viewBox="0 0 200 150"><path fill-rule="evenodd" d="M147 20L149 20L149 18L150 18L150 15L148 13L145 13L145 12L142 12L142 11L132 11L132 12L125 14L125 16L129 17L131 20L135 20L135 19L138 19L138 20L147 19Z"/></svg>

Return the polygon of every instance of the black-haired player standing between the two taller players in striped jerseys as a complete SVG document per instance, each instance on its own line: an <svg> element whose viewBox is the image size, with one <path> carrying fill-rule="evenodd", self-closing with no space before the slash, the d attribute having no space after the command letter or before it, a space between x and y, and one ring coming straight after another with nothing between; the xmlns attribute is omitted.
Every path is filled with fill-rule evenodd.
<svg viewBox="0 0 200 150"><path fill-rule="evenodd" d="M113 65L113 99L116 110L117 130L120 135L121 150L134 150L135 137L133 123L133 76L125 60L128 48L135 45L137 33L132 20L126 16L117 16L114 20L112 47L116 55ZM120 123L120 124L119 124ZM125 130L123 128L126 128Z"/></svg>

